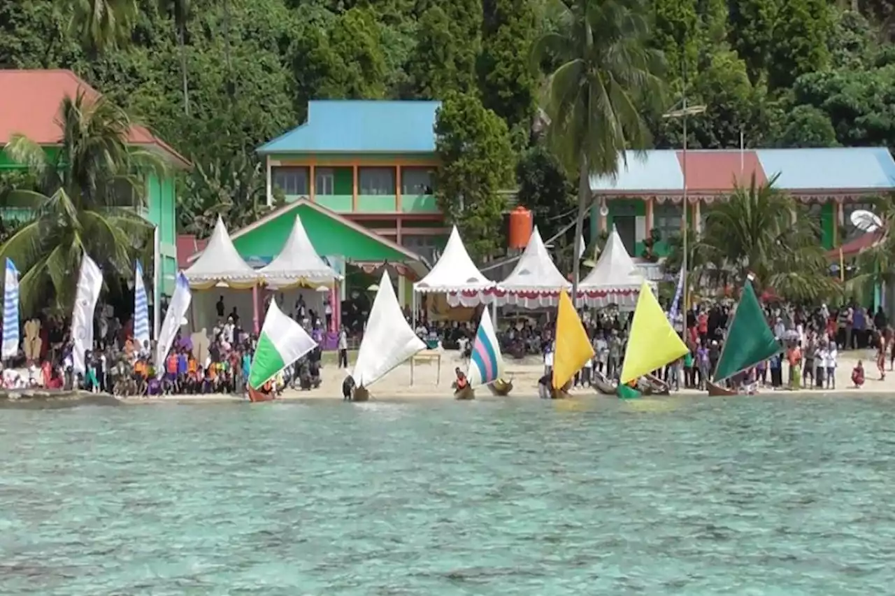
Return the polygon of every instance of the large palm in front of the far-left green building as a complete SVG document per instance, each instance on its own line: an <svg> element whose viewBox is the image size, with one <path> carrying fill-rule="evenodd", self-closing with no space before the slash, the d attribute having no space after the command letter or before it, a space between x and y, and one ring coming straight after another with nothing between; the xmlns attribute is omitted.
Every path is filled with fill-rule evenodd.
<svg viewBox="0 0 895 596"><path fill-rule="evenodd" d="M12 259L22 272L26 312L51 295L58 306L71 304L83 252L107 273L130 277L152 232L137 211L144 176L165 169L154 154L128 147L130 120L103 98L64 98L59 123L56 150L21 135L4 148L37 179L36 189L8 193L6 207L22 209L29 219L0 246L0 258Z"/></svg>

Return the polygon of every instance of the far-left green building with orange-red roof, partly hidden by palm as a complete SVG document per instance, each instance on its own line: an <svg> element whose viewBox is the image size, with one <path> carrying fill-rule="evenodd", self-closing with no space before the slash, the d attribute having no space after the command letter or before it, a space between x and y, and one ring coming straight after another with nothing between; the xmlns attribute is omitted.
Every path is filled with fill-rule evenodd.
<svg viewBox="0 0 895 596"><path fill-rule="evenodd" d="M63 99L75 98L79 93L83 93L88 101L100 97L96 89L81 81L73 72L64 70L0 70L0 89L4 89L3 109L0 110L0 147L14 135L21 134L50 154L57 150L62 137L59 108ZM190 166L175 149L143 126L131 127L128 142L134 147L158 152L172 166L172 171ZM24 168L5 153L0 153L0 171ZM158 226L157 281L162 293L170 295L174 291L177 274L175 175L150 175L146 184L146 200L142 205L135 206L132 196L123 196L121 206L139 209L149 223ZM23 217L28 217L28 214Z"/></svg>

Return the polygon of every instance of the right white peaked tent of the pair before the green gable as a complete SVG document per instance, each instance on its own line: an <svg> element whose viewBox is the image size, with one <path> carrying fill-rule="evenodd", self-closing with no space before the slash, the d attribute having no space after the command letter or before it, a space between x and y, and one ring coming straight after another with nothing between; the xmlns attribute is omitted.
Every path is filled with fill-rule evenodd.
<svg viewBox="0 0 895 596"><path fill-rule="evenodd" d="M320 259L304 231L301 217L297 215L283 250L266 267L260 268L258 274L265 283L277 289L297 285L333 285L342 278Z"/></svg>

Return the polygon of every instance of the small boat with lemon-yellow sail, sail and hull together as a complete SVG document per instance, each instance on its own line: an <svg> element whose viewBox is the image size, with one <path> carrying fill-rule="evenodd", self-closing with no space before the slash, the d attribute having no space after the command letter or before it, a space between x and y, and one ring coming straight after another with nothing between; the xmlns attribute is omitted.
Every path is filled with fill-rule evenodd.
<svg viewBox="0 0 895 596"><path fill-rule="evenodd" d="M618 396L632 399L644 394L668 395L668 385L653 377L652 371L664 368L687 352L689 349L684 340L671 327L650 285L644 281L627 338L625 362L618 378Z"/></svg>

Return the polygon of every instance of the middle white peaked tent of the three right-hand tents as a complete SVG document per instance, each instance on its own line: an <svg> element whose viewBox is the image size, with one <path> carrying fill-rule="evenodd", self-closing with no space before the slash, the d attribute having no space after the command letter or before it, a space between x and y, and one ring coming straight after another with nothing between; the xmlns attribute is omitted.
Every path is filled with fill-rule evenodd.
<svg viewBox="0 0 895 596"><path fill-rule="evenodd" d="M527 309L555 306L559 291L571 288L572 284L550 259L541 233L535 226L516 268L498 284L496 302L499 305L516 304Z"/></svg>

